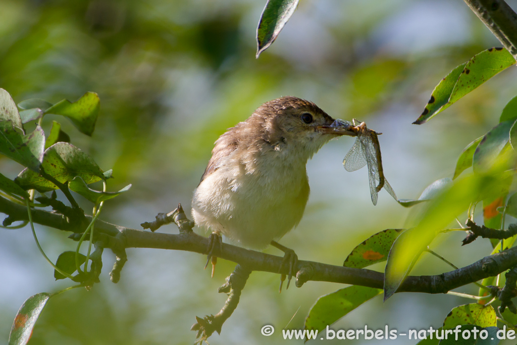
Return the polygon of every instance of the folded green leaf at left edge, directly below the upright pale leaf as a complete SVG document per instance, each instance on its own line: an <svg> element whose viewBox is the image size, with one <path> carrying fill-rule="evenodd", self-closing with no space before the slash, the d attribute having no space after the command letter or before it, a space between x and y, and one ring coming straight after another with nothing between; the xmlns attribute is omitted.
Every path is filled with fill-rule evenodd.
<svg viewBox="0 0 517 345"><path fill-rule="evenodd" d="M39 171L45 134L37 126L34 132L23 135L12 126L11 121L0 121L0 153L33 171Z"/></svg>

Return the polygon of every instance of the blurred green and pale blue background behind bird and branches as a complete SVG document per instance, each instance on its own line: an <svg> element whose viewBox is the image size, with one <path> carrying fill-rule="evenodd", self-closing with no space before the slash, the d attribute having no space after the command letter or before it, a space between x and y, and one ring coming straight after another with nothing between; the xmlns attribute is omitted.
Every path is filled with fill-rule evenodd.
<svg viewBox="0 0 517 345"><path fill-rule="evenodd" d="M517 1L508 3L517 8ZM512 67L429 123L411 124L453 67L500 46L461 1L304 0L277 41L255 59L254 34L264 4L0 0L0 87L17 102L99 94L101 113L92 138L68 122L63 127L102 169L113 169L111 190L133 184L107 202L101 215L132 228L178 202L189 211L214 141L267 100L306 98L333 117L355 117L383 132L385 174L399 198L416 198L436 179L452 176L462 149L493 127L517 94ZM45 129L51 120L45 117ZM366 169L348 173L341 164L352 144L351 138L332 141L308 163L311 197L305 215L281 241L300 259L341 265L356 244L378 231L410 226L418 213L384 190L372 205ZM9 177L21 170L2 157L0 166ZM37 233L54 260L75 248L65 233L43 227ZM458 266L490 253L488 241L460 247L462 237L441 235L432 247ZM210 279L199 254L130 249L128 258L120 282L113 284L108 272L114 257L105 251L101 283L52 299L31 344L193 343L194 316L219 311L226 296L217 287L234 264L219 260ZM413 273L448 270L423 254ZM1 343L7 343L14 315L28 296L70 286L52 275L28 227L0 230ZM254 272L234 315L210 343L284 343L282 328L303 328L317 297L343 287L308 282L279 294L278 284L278 275ZM377 297L333 328L437 328L452 307L466 303L443 295L396 294L386 303ZM266 324L277 329L267 338L260 333Z"/></svg>

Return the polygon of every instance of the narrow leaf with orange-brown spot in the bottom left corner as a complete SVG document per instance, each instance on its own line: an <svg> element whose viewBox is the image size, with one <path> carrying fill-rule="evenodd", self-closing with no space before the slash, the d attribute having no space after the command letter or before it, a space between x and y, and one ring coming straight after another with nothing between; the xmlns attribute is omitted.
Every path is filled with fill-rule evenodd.
<svg viewBox="0 0 517 345"><path fill-rule="evenodd" d="M50 294L42 292L23 302L12 323L9 345L25 345L31 339L34 325L50 297Z"/></svg>

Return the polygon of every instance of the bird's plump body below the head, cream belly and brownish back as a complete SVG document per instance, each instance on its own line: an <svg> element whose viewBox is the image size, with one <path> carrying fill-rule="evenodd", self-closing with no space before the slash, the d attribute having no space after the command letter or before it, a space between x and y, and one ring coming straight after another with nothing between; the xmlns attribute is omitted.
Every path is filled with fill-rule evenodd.
<svg viewBox="0 0 517 345"><path fill-rule="evenodd" d="M308 155L280 145L224 157L194 191L195 223L251 248L295 227L309 197Z"/></svg>

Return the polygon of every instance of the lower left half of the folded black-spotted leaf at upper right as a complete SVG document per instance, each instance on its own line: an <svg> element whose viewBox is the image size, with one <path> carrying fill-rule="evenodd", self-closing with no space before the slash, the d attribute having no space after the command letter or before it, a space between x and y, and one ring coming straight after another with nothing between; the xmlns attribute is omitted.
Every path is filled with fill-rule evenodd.
<svg viewBox="0 0 517 345"><path fill-rule="evenodd" d="M431 98L429 102L427 102L422 114L420 114L414 124L421 125L434 115L449 108L449 97L452 94L454 85L456 85L458 78L460 78L462 71L465 69L466 64L465 62L456 66L444 79L440 80L438 85L435 86Z"/></svg>

